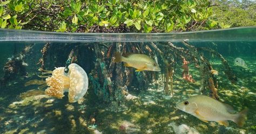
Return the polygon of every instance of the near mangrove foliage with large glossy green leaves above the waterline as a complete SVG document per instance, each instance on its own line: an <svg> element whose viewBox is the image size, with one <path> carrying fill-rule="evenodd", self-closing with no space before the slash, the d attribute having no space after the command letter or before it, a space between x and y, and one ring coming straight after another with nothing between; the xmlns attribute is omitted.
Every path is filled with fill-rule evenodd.
<svg viewBox="0 0 256 134"><path fill-rule="evenodd" d="M210 0L9 0L0 5L0 25L57 32L126 25L132 32L146 33L228 27L218 23L209 5Z"/></svg>

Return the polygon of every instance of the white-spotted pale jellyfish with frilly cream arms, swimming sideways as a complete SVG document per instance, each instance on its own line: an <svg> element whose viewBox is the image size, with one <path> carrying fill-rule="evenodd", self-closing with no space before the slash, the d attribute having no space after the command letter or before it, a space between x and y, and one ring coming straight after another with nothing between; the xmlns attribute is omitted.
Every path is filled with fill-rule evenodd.
<svg viewBox="0 0 256 134"><path fill-rule="evenodd" d="M64 72L65 67L58 67L53 71L41 69L43 75L39 77L47 77L45 81L31 80L26 82L25 86L38 84L41 85L38 89L48 87L43 91L43 94L57 98L62 98L65 96L65 92L69 92L69 102L77 102L88 89L88 77L84 69L77 64L70 64L68 68L68 73ZM44 74L52 75L44 76ZM35 90L28 91L27 94L35 95Z"/></svg>

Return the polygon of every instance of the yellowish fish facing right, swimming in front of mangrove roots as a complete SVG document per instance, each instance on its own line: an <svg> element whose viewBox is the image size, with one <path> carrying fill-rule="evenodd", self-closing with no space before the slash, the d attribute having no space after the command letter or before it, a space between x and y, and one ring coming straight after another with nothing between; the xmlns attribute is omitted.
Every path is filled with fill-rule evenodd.
<svg viewBox="0 0 256 134"><path fill-rule="evenodd" d="M123 57L119 52L114 53L114 62L125 62L124 66L136 68L136 72L142 70L160 71L157 62L145 54L130 53Z"/></svg>

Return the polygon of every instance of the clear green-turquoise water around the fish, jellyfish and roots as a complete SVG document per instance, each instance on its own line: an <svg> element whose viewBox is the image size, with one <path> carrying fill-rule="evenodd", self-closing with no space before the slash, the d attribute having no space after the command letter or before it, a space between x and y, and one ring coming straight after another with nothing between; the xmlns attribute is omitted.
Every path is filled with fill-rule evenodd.
<svg viewBox="0 0 256 134"><path fill-rule="evenodd" d="M174 53L173 48L168 45L171 42L189 51L181 43L183 40L196 48L211 48L227 60L238 78L236 83L231 83L227 79L224 73L225 68L218 57L200 51L210 61L212 67L219 72L216 77L220 101L232 105L236 112L245 107L249 109L247 121L242 128L231 121L228 127L215 122L205 123L175 107L177 102L187 97L202 94L199 91L201 74L196 62L193 58L188 58L191 62L189 64L190 74L196 82L190 83L183 80L181 53ZM87 75L98 74L100 77L102 73L98 73L101 71L98 65L104 61L106 68L111 68L112 57L107 57L107 52L111 46L114 46L113 51L132 52L140 48L139 53L145 53L157 59L161 72L144 71L143 74L133 72L134 79L127 83L126 77L123 77L123 80L118 79L120 75L125 76L124 72L127 72L129 68L124 68L123 64L112 65L113 70L119 67L122 69L121 73L111 73L108 70L109 74L113 74L111 81L115 86L118 85L118 81L121 82L120 86L127 86L127 94L136 97L135 100L127 100L127 94L119 98L118 94L121 90L118 91L117 86L113 87L113 91L116 91L114 98L111 95L99 95L90 79L89 89L83 102L69 103L66 94L62 100L38 96L21 98L19 97L21 93L38 87L24 87L25 82L33 79L44 80L37 75L40 74L38 68L41 64L38 64L38 61L42 58L41 50L46 43L50 43L48 53L45 54L44 66L48 70L64 67L70 51L74 49L77 55L76 63L85 70ZM161 61L160 54L152 47L152 43L165 53L166 59L173 57L176 61L173 95L163 93L164 79L162 76L166 68ZM26 46L29 46L30 50L24 52ZM147 47L155 53L150 52ZM100 51L96 52L97 49ZM0 133L183 133L178 128L184 129L184 127L187 128L184 133L189 133L189 131L191 133L255 133L256 131L256 27L153 34L47 33L1 29L0 54L0 77L2 77ZM21 58L20 54L24 54L22 62L25 70L17 70L18 73L11 74L10 78L6 79L2 68L12 57ZM237 57L244 59L247 66L235 66L234 59ZM104 80L104 78L100 79ZM100 82L103 84L103 81ZM103 85L99 90L103 90ZM111 94L110 91L107 93ZM207 86L203 94L210 95ZM96 127L92 127L92 118L96 119ZM125 131L120 128L122 125L126 126Z"/></svg>

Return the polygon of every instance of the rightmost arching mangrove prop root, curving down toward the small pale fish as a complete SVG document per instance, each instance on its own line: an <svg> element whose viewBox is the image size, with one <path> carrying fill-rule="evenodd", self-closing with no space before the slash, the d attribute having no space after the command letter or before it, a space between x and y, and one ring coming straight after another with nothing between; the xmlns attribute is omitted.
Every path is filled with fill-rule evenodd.
<svg viewBox="0 0 256 134"><path fill-rule="evenodd" d="M210 53L214 54L215 56L217 56L218 58L220 58L223 66L224 66L224 72L225 72L226 76L228 77L228 80L230 80L232 83L236 83L238 81L237 76L235 76L235 74L233 73L233 70L230 68L230 66L227 63L227 60L225 60L223 55L212 50L211 48L199 47L198 50L210 52Z"/></svg>

